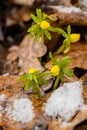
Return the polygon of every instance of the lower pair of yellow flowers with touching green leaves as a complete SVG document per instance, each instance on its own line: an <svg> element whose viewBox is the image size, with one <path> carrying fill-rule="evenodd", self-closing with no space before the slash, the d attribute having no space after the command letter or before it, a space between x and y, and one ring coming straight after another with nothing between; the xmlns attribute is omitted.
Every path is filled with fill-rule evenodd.
<svg viewBox="0 0 87 130"><path fill-rule="evenodd" d="M67 68L69 63L70 58L68 56L61 60L54 60L52 58L52 68L50 71L39 71L35 68L30 68L29 73L20 76L19 80L24 81L24 88L26 91L32 88L32 92L37 92L39 97L41 97L41 86L47 85L46 77L50 76L55 78L54 90L58 87L59 81L63 82L64 75L69 77L74 76L73 70Z"/></svg>

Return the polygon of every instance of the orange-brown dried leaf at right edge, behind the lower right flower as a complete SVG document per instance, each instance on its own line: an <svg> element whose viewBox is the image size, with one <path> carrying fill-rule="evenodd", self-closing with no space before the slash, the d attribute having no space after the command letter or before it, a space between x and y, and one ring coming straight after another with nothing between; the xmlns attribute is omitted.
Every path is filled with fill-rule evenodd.
<svg viewBox="0 0 87 130"><path fill-rule="evenodd" d="M70 56L71 64L69 68L82 68L87 70L87 43L78 42L71 45L71 50L67 54L60 54L54 56L54 59L59 58L62 59L65 56ZM51 68L52 64L49 61L46 64L46 68Z"/></svg>

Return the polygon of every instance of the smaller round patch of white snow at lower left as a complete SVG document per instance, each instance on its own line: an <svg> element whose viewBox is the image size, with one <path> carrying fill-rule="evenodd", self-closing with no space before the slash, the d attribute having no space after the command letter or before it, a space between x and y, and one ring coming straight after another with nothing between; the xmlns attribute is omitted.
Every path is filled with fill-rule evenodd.
<svg viewBox="0 0 87 130"><path fill-rule="evenodd" d="M26 123L31 121L35 114L32 102L28 98L15 99L13 104L8 104L6 115L15 121Z"/></svg>

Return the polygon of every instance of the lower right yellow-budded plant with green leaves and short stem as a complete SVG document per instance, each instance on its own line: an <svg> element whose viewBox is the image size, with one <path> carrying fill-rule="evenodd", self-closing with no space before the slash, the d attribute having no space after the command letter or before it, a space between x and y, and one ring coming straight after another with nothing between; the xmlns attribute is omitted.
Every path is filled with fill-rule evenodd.
<svg viewBox="0 0 87 130"><path fill-rule="evenodd" d="M67 75L68 77L73 77L74 73L72 69L68 69L68 65L70 64L70 57L65 56L63 59L59 60L58 58L56 60L53 59L52 53L50 53L50 58L52 59L52 68L50 72L53 76L56 77L53 90L55 90L59 84L59 81L63 82L64 75Z"/></svg>

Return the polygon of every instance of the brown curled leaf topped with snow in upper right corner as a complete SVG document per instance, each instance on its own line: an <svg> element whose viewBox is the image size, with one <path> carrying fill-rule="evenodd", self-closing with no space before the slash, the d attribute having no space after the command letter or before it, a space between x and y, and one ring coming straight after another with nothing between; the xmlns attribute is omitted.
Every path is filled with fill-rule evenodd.
<svg viewBox="0 0 87 130"><path fill-rule="evenodd" d="M57 14L59 18L58 25L81 25L87 26L87 11L76 8L72 5L50 6L51 10Z"/></svg>

